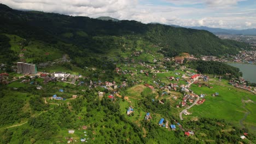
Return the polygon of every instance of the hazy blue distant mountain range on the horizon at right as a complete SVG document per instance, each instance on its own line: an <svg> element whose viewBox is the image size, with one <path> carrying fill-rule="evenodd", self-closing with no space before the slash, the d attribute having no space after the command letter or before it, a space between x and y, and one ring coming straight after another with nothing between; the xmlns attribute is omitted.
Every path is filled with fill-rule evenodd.
<svg viewBox="0 0 256 144"><path fill-rule="evenodd" d="M238 34L238 35L256 35L256 28L251 29L243 29L243 30L236 30L236 29L223 29L223 28L210 28L210 27L187 27L193 29L200 29L206 30L214 34Z"/></svg>

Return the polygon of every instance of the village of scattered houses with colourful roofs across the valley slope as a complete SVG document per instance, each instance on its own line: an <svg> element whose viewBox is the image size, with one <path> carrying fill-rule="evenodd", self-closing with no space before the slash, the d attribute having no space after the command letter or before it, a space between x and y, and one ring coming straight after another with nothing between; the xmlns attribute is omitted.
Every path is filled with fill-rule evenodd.
<svg viewBox="0 0 256 144"><path fill-rule="evenodd" d="M139 55L139 53L135 53L135 55ZM194 61L194 56L189 57L189 61ZM202 57L203 61L222 61L216 59L216 57L213 56L206 56ZM191 91L190 86L196 85L197 87L208 87L213 88L210 85L207 85L204 82L208 82L210 80L210 76L207 75L201 75L197 74L196 70L186 68L183 65L183 58L176 58L176 59L170 59L170 58L163 58L163 59L153 59L153 63L145 63L145 62L137 62L135 63L132 61L132 59L126 59L126 61L131 61L131 63L123 63L120 64L119 67L115 68L115 73L118 75L125 75L129 79L125 79L122 81L102 81L101 79L92 79L91 77L86 77L81 74L74 75L70 73L66 73L64 71L55 71L54 73L49 73L45 71L37 71L36 65L33 64L27 64L19 62L17 63L17 67L13 67L17 73L21 74L21 76L18 77L12 77L9 78L9 74L2 73L0 74L0 80L1 83L12 83L15 81L19 81L20 83L29 83L30 85L36 86L38 91L44 89L43 86L38 85L35 79L43 79L43 84L48 85L50 82L61 82L61 83L68 83L74 86L81 86L81 87L89 87L89 88L103 88L106 89L106 91L98 91L98 97L102 99L104 96L107 95L109 99L111 99L113 102L117 98L124 98L125 96L121 96L121 88L129 88L132 86L136 86L139 84L143 84L144 86L150 88L153 92L161 92L154 100L158 100L159 104L164 104L162 101L163 97L171 97L175 102L173 103L173 107L176 107L177 109L183 108L183 110L179 113L180 120L182 122L183 117L182 115L193 115L193 113L189 112L189 109L193 107L194 105L201 105L205 103L206 99L205 97L218 97L219 93L215 92L212 93L212 95L206 95L203 93L197 93L195 94L193 91ZM168 61L174 61L176 64L173 67L173 70L170 70L168 68L168 65L165 65L164 62ZM4 65L2 64L2 67ZM169 70L168 70L169 69ZM104 71L102 71L104 73ZM221 79L221 78L220 78ZM239 83L239 84L238 84ZM246 83L244 80L241 79L241 81L230 81L230 84L232 86L246 89L248 91L251 91L253 93L256 92L256 89L253 87L246 86ZM14 87L14 89L17 89ZM48 103L46 101L49 101L49 104L58 104L60 100L68 100L68 99L75 99L77 97L80 97L80 95L77 94L69 94L66 97L62 97L61 93L65 93L65 87L60 88L58 93L55 93L53 95L48 95L48 99L45 100L45 103ZM176 94L173 94L173 92L179 92L183 96L177 97ZM126 99L127 100L127 99ZM129 100L127 100L129 101ZM133 107L130 105L129 107L126 107L126 114L127 116L133 116L134 112L136 111L136 107ZM154 118L154 116L150 115L149 112L145 114L144 119L146 121L149 121L150 119ZM194 135L195 132L191 130L185 130L185 128L182 127L182 125L177 122L176 120L167 120L165 118L161 118L159 123L161 127L165 127L169 130L176 130L176 126L184 131L185 136ZM84 125L82 129L84 129L86 126ZM80 128L81 129L81 128ZM86 130L86 129L84 129ZM68 143L71 143L74 141L72 138L72 134L74 134L75 130L68 130L68 134L71 134L71 136L67 137L66 140ZM80 137L80 142L86 142L92 137L88 137L86 135L86 131L84 131L84 137ZM77 140L75 140L77 141Z"/></svg>

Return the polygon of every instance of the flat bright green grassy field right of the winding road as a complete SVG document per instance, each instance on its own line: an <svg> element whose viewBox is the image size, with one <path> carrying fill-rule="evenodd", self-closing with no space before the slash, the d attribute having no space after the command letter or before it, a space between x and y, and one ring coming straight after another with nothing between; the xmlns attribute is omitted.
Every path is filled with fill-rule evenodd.
<svg viewBox="0 0 256 144"><path fill-rule="evenodd" d="M242 100L251 99L255 101L255 95L229 85L226 80L219 82L215 79L209 81L208 84L213 86L213 88L191 85L191 89L194 93L207 95L205 97L206 101L202 105L197 105L190 109L189 111L192 112L193 115L184 116L184 118L192 118L194 116L220 118L236 125L240 125L240 119L242 119L246 113L246 110L243 108ZM219 93L219 96L213 97L212 94L216 92ZM253 109L256 109L256 105L246 104L246 107L251 111L245 120L246 123L249 125L256 125L256 113L252 111Z"/></svg>

